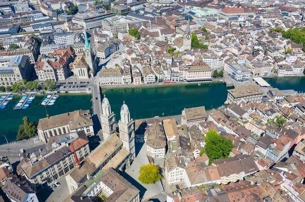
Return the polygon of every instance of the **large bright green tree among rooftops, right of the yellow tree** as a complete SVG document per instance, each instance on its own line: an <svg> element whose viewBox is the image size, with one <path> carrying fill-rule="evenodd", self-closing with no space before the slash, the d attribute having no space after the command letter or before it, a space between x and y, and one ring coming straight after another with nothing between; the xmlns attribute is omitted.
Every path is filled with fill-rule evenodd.
<svg viewBox="0 0 305 202"><path fill-rule="evenodd" d="M232 140L220 136L215 130L206 133L205 137L205 153L214 160L227 158L234 148Z"/></svg>

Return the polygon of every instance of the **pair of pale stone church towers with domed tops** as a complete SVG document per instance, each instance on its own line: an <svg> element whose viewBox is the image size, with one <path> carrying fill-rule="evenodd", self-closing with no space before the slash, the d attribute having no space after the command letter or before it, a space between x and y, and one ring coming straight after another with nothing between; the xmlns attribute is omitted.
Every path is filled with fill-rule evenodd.
<svg viewBox="0 0 305 202"><path fill-rule="evenodd" d="M106 140L116 132L115 114L111 111L108 99L104 95L102 100L101 124L103 137ZM130 158L135 159L135 122L130 119L128 106L123 102L118 121L119 139L123 142L123 148L130 152Z"/></svg>

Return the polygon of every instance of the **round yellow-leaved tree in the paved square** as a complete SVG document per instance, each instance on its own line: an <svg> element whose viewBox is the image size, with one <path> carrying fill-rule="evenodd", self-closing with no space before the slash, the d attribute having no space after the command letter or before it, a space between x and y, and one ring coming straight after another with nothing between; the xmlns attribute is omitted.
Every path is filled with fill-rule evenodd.
<svg viewBox="0 0 305 202"><path fill-rule="evenodd" d="M143 184L154 184L158 180L161 180L160 170L158 166L154 164L147 164L140 167L139 178Z"/></svg>

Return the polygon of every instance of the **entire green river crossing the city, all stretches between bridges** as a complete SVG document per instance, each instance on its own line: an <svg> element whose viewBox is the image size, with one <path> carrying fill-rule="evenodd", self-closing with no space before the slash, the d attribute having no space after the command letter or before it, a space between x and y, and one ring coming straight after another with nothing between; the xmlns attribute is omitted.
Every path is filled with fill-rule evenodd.
<svg viewBox="0 0 305 202"><path fill-rule="evenodd" d="M268 78L266 81L280 90L293 89L305 91L305 77ZM224 104L227 98L227 88L223 83L205 83L184 85L162 85L134 88L102 88L106 94L111 110L120 118L120 106L125 100L129 107L131 118L150 118L153 116L170 116L181 114L184 108L205 106L206 110L217 108ZM6 109L0 109L0 144L14 141L22 117L27 116L32 122L38 122L46 117L45 107L40 104L43 96L37 96L27 109L13 110L20 96L15 96ZM91 109L89 94L60 94L54 105L46 106L50 116L67 113L78 109Z"/></svg>

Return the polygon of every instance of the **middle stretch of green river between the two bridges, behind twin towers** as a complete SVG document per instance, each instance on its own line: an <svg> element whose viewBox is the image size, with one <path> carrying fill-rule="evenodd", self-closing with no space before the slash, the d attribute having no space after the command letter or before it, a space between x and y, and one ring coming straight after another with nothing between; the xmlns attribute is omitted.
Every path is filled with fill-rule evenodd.
<svg viewBox="0 0 305 202"><path fill-rule="evenodd" d="M102 88L111 110L120 116L123 101L128 105L131 118L150 118L181 114L184 108L205 106L206 109L224 105L227 90L223 83L162 85L135 88Z"/></svg>

